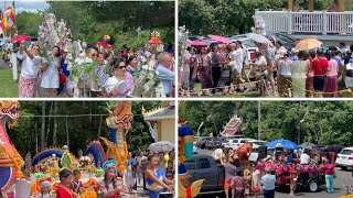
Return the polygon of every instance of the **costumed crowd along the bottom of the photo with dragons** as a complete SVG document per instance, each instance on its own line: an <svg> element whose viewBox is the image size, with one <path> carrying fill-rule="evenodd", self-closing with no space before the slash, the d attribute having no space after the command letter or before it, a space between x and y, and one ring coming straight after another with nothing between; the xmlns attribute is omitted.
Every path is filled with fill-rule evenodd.
<svg viewBox="0 0 353 198"><path fill-rule="evenodd" d="M93 197L118 198L122 195L138 196L138 186L143 188L143 196L150 198L172 197L174 194L174 175L175 175L175 153L170 152L152 152L140 151L138 155L129 153L126 169L119 172L118 164L115 160L106 161L101 166L98 162L95 168L95 176L89 178L97 179L97 183L83 183L84 177L87 177L87 172L92 170L92 166L87 163L81 163L79 168L63 167L58 172L58 180L44 178L41 176L40 191L33 194L33 198L79 198L83 195ZM47 174L52 169L50 167L57 157L52 156L42 166L38 166L36 173L44 172L40 175ZM88 162L89 163L89 162ZM88 167L89 166L89 167ZM41 172L39 172L41 170ZM101 170L101 172L100 172ZM53 174L51 170L50 174ZM86 178L87 179L87 178ZM90 186L87 186L90 185ZM90 191L90 194L87 194ZM6 194L1 194L7 197Z"/></svg>

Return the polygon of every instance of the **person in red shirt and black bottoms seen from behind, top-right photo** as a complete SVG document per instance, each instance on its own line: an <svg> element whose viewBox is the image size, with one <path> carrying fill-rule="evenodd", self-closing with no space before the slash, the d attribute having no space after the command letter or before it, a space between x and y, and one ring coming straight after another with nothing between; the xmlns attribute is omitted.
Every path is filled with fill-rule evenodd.
<svg viewBox="0 0 353 198"><path fill-rule="evenodd" d="M317 51L317 57L312 61L312 69L313 69L313 88L317 91L317 97L322 98L322 92L324 90L324 76L328 73L329 61L323 57L323 52L321 50Z"/></svg>

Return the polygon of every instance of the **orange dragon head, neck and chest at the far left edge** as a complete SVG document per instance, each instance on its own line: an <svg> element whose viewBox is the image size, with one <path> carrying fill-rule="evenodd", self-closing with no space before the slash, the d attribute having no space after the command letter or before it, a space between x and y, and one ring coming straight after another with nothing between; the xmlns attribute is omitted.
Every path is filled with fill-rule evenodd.
<svg viewBox="0 0 353 198"><path fill-rule="evenodd" d="M19 118L18 101L0 101L0 188L7 191L17 178L23 178L21 172L23 160L7 133L14 128Z"/></svg>

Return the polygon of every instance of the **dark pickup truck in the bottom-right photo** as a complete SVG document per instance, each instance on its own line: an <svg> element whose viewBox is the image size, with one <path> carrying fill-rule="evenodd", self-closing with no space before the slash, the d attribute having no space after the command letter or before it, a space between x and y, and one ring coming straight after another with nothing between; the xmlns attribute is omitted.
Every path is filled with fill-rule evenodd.
<svg viewBox="0 0 353 198"><path fill-rule="evenodd" d="M201 195L216 194L217 197L224 197L225 169L223 165L217 164L212 156L203 154L194 154L184 165L191 175L191 183L205 179Z"/></svg>

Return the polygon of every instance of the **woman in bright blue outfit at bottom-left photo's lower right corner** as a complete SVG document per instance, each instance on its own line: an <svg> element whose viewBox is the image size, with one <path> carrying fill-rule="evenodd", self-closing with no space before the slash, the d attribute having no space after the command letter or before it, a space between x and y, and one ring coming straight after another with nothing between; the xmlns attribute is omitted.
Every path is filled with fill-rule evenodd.
<svg viewBox="0 0 353 198"><path fill-rule="evenodd" d="M158 198L159 194L165 190L172 191L169 185L173 185L173 180L165 178L164 173L158 168L159 158L157 155L148 156L149 166L146 169L146 183L149 189L150 198Z"/></svg>

